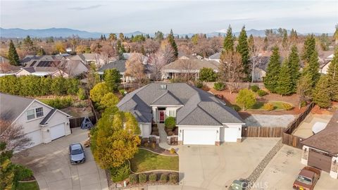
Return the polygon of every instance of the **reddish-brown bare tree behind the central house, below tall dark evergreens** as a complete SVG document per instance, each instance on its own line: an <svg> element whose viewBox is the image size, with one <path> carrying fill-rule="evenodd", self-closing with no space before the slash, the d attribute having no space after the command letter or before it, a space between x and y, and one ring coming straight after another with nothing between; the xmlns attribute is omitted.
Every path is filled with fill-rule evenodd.
<svg viewBox="0 0 338 190"><path fill-rule="evenodd" d="M229 82L230 93L238 89L238 83L244 77L242 57L237 52L225 51L220 57L220 79Z"/></svg>

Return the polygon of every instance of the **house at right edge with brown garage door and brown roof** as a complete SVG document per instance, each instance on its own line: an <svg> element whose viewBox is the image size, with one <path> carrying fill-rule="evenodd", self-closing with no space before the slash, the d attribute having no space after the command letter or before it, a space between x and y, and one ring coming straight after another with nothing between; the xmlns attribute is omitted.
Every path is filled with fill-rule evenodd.
<svg viewBox="0 0 338 190"><path fill-rule="evenodd" d="M325 129L301 141L301 163L329 172L338 179L338 111L334 113Z"/></svg>

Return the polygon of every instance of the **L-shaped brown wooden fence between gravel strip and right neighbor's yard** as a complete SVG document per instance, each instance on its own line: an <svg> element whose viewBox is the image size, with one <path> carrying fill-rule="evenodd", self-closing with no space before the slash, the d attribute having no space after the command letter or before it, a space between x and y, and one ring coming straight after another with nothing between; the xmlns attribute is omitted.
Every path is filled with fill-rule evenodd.
<svg viewBox="0 0 338 190"><path fill-rule="evenodd" d="M296 120L294 120L292 123L290 123L287 126L287 129L285 129L283 135L282 135L282 142L283 144L293 146L295 148L302 148L301 141L303 141L303 138L298 137L296 135L293 135L292 133L294 130L301 125L301 122L305 120L306 116L308 116L308 113L311 112L312 108L315 106L315 103L311 102L308 107L306 107L306 110L299 115Z"/></svg>

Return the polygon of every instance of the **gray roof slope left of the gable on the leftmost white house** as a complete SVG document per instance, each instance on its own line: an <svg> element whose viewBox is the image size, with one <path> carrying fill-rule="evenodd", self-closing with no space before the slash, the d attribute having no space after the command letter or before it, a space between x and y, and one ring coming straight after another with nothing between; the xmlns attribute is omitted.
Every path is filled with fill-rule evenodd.
<svg viewBox="0 0 338 190"><path fill-rule="evenodd" d="M0 119L13 121L34 99L0 93Z"/></svg>

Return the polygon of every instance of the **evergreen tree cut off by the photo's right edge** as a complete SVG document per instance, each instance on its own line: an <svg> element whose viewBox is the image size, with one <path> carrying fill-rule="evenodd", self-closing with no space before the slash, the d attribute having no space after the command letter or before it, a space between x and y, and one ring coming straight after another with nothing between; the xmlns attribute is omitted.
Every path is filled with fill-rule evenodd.
<svg viewBox="0 0 338 190"><path fill-rule="evenodd" d="M327 70L329 91L332 101L338 101L338 48L334 50L334 57Z"/></svg>

